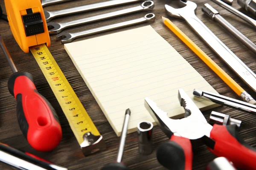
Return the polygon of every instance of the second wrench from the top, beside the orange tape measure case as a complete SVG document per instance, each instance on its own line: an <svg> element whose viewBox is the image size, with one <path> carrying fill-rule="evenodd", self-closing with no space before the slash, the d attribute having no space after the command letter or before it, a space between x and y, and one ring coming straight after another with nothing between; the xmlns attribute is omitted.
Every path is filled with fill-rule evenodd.
<svg viewBox="0 0 256 170"><path fill-rule="evenodd" d="M48 23L50 20L52 20L52 18L56 18L56 17L61 17L65 15L70 15L70 14L77 14L80 12L87 12L87 11L92 11L92 10L101 9L101 8L108 8L111 6L118 6L118 5L123 5L127 3L135 3L139 1L141 0L109 0L107 2L93 3L90 5L79 6L75 8L68 8L68 9L63 9L59 11L44 10L44 15L45 15L46 22Z"/></svg>

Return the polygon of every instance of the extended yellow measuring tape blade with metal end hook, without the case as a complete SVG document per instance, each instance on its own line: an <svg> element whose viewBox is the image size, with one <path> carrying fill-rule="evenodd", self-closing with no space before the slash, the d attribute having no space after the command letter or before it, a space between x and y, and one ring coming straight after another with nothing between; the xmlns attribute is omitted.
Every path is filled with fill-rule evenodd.
<svg viewBox="0 0 256 170"><path fill-rule="evenodd" d="M61 105L84 155L104 150L102 135L93 124L73 88L45 44L29 47Z"/></svg>

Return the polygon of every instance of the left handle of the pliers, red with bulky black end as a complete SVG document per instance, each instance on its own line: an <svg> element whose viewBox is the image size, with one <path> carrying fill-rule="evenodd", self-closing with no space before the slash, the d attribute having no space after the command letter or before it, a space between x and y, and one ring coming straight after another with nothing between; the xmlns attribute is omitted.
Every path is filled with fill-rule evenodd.
<svg viewBox="0 0 256 170"><path fill-rule="evenodd" d="M157 160L169 170L192 170L192 144L189 139L172 135L157 148Z"/></svg>

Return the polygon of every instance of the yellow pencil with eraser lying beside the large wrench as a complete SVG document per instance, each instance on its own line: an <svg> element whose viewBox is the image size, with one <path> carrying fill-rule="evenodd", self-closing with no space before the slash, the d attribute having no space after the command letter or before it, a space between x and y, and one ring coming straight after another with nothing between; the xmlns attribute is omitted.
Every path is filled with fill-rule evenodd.
<svg viewBox="0 0 256 170"><path fill-rule="evenodd" d="M209 66L209 68L214 71L218 77L220 77L238 96L240 96L244 101L249 102L251 104L256 104L256 101L244 91L243 88L239 84L237 84L224 70L222 70L207 54L204 53L189 37L186 36L177 26L175 26L172 21L168 18L162 17L163 23L180 38L199 58L201 58L205 64ZM246 97L251 97L250 100L245 99Z"/></svg>

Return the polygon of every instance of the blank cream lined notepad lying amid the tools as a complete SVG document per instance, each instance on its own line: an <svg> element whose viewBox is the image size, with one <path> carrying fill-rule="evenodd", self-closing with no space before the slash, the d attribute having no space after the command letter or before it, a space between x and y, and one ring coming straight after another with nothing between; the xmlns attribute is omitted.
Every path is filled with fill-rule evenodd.
<svg viewBox="0 0 256 170"><path fill-rule="evenodd" d="M127 108L128 132L140 121L154 122L144 107L145 97L170 117L184 113L179 88L201 109L218 106L193 97L195 88L217 92L151 26L65 44L65 49L118 136Z"/></svg>

